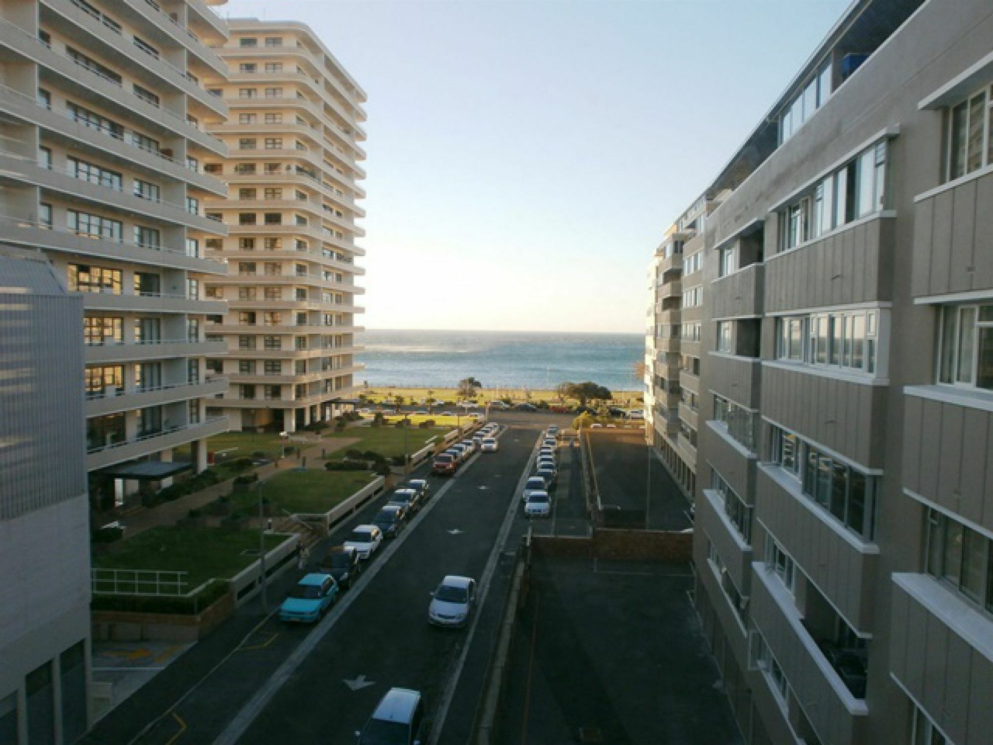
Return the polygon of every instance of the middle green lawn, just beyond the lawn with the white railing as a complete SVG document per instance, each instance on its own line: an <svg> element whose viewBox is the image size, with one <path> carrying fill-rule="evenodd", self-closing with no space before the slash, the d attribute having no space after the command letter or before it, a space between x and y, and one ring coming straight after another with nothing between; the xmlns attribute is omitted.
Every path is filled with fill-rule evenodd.
<svg viewBox="0 0 993 745"><path fill-rule="evenodd" d="M279 514L326 513L355 494L375 476L367 471L283 471L262 482L262 496ZM251 511L258 504L258 494L252 489L232 496L235 504Z"/></svg>

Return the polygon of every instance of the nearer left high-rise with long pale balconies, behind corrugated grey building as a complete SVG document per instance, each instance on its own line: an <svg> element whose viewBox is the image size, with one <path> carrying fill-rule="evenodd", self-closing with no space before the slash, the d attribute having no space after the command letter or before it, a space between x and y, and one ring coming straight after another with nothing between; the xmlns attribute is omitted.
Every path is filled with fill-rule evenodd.
<svg viewBox="0 0 993 745"><path fill-rule="evenodd" d="M86 469L104 505L206 466L226 430L205 401L223 303L205 277L226 194L206 173L227 107L202 80L226 74L226 38L204 0L0 0L0 242L36 249L82 294Z"/></svg>

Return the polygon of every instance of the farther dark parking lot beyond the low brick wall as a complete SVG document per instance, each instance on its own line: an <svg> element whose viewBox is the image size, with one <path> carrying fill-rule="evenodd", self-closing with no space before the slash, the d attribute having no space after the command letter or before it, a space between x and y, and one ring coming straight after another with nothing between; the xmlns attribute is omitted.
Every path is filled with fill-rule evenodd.
<svg viewBox="0 0 993 745"><path fill-rule="evenodd" d="M617 511L628 526L652 530L692 526L689 502L640 429L596 429L587 441L605 514Z"/></svg>

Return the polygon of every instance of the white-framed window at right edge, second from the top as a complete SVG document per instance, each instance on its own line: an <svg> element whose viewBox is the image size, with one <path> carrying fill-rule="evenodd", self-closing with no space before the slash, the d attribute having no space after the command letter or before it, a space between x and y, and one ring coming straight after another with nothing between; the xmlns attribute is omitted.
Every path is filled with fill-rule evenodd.
<svg viewBox="0 0 993 745"><path fill-rule="evenodd" d="M938 382L993 389L993 304L941 309Z"/></svg>

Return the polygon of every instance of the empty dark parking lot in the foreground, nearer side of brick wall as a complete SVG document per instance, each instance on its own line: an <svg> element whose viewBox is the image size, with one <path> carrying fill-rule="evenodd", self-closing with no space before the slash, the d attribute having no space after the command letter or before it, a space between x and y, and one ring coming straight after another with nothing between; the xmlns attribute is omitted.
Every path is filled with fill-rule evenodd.
<svg viewBox="0 0 993 745"><path fill-rule="evenodd" d="M535 558L501 745L741 742L685 564Z"/></svg>

